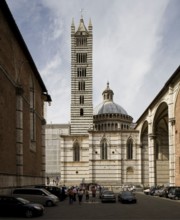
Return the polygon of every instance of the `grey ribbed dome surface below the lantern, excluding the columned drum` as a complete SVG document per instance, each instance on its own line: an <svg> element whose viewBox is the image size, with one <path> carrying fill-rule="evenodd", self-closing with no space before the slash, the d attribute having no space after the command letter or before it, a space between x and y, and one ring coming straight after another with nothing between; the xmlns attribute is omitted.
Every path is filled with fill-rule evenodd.
<svg viewBox="0 0 180 220"><path fill-rule="evenodd" d="M107 101L99 104L94 109L94 115L100 114L124 114L127 115L127 112L118 104L113 101Z"/></svg>

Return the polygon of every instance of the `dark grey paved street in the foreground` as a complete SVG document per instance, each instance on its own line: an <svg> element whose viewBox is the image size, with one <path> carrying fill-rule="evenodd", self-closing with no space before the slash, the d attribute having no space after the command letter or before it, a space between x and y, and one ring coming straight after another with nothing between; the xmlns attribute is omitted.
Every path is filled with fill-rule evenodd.
<svg viewBox="0 0 180 220"><path fill-rule="evenodd" d="M137 193L137 204L85 202L79 205L75 202L69 205L68 200L60 202L56 207L47 207L44 216L34 218L41 220L173 220L180 219L180 200L174 201L165 198L147 196ZM6 220L17 218L6 218ZM24 218L22 218L24 219Z"/></svg>

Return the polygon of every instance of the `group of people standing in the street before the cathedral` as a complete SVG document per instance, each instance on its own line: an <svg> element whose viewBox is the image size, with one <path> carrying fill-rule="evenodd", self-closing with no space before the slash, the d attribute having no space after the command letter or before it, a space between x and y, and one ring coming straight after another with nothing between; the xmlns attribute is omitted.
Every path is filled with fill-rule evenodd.
<svg viewBox="0 0 180 220"><path fill-rule="evenodd" d="M92 192L92 201L95 201L96 198L95 186L91 188L91 192ZM85 196L86 202L89 201L89 190L86 188L70 187L68 189L68 196L69 196L69 204L73 204L73 202L76 202L78 199L79 205L81 205L83 196Z"/></svg>

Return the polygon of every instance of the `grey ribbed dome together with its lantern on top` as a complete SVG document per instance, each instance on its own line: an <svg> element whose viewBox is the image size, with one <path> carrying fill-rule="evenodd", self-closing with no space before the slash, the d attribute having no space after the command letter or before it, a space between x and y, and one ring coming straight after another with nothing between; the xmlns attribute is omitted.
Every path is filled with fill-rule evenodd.
<svg viewBox="0 0 180 220"><path fill-rule="evenodd" d="M113 102L113 91L109 88L109 83L107 83L107 88L102 93L104 101L95 107L94 115L100 114L124 114L127 112L118 104Z"/></svg>

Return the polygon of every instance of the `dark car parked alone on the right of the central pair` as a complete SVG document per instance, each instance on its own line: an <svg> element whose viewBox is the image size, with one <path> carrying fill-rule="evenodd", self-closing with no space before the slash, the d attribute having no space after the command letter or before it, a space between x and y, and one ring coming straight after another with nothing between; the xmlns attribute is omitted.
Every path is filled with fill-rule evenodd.
<svg viewBox="0 0 180 220"><path fill-rule="evenodd" d="M118 194L118 201L121 203L137 203L135 193L131 191L122 191Z"/></svg>

